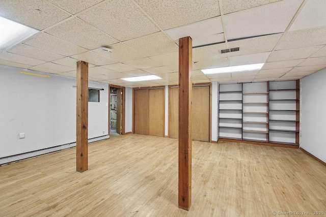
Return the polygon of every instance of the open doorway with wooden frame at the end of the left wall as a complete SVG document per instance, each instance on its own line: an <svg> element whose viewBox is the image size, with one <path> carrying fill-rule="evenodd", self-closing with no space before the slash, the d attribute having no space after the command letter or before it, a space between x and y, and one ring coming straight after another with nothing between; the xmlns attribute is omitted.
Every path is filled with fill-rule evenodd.
<svg viewBox="0 0 326 217"><path fill-rule="evenodd" d="M110 137L124 134L124 87L110 85Z"/></svg>

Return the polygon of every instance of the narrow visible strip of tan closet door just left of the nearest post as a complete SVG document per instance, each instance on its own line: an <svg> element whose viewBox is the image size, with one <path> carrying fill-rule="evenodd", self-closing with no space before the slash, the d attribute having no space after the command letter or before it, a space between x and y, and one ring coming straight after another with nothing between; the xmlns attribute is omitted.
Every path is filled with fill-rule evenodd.
<svg viewBox="0 0 326 217"><path fill-rule="evenodd" d="M177 139L179 136L179 88L170 88L169 104L169 137Z"/></svg>

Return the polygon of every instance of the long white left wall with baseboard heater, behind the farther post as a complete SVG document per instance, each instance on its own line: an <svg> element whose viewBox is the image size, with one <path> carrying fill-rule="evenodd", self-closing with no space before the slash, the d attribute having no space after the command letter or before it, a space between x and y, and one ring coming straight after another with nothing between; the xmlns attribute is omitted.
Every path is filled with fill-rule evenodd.
<svg viewBox="0 0 326 217"><path fill-rule="evenodd" d="M73 86L75 78L0 65L0 158L75 142ZM89 87L104 88L100 103L89 103L88 137L95 138L108 134L108 85L90 81Z"/></svg>

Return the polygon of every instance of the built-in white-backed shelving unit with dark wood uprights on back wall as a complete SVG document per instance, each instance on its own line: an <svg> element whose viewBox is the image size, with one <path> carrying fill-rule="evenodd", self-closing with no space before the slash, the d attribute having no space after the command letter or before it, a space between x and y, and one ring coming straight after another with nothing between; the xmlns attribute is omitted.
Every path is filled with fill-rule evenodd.
<svg viewBox="0 0 326 217"><path fill-rule="evenodd" d="M298 145L299 81L220 84L219 138Z"/></svg>

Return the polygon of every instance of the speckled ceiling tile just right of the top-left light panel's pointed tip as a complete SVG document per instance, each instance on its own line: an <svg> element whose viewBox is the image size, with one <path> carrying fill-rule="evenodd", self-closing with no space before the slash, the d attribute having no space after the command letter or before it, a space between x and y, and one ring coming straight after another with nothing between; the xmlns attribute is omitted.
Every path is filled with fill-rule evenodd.
<svg viewBox="0 0 326 217"><path fill-rule="evenodd" d="M89 50L119 42L78 18L52 27L46 33Z"/></svg>

